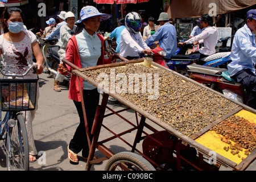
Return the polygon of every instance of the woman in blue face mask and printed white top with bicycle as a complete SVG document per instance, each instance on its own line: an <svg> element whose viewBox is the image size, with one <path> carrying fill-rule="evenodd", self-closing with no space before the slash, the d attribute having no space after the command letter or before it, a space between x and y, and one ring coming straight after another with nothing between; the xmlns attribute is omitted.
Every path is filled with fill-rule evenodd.
<svg viewBox="0 0 256 182"><path fill-rule="evenodd" d="M18 7L8 7L3 13L1 24L3 28L3 34L0 36L0 55L3 54L6 65L32 65L38 66L36 74L43 72L43 55L40 51L39 44L36 36L26 29L23 24L22 11ZM32 60L32 53L34 53L36 63ZM17 66L16 69L19 69ZM15 70L16 70L15 69ZM26 68L25 68L26 69ZM26 70L19 69L24 73ZM11 72L11 69L10 71ZM36 79L38 75L28 73L23 77L24 79ZM39 84L37 90L37 100L39 98ZM36 104L38 101L36 101ZM30 150L30 162L36 161L36 151L32 121L35 117L35 111L38 106L35 106L35 110L24 111L26 118L26 128L28 134L29 150Z"/></svg>

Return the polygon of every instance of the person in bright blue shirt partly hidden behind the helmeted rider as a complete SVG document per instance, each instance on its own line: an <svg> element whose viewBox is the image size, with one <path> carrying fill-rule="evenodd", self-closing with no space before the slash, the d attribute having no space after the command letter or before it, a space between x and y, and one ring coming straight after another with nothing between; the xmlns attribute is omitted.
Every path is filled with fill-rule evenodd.
<svg viewBox="0 0 256 182"><path fill-rule="evenodd" d="M117 43L117 48L115 48L115 52L116 52L116 53L119 53L119 52L120 52L120 46L119 46L119 44L120 44L121 32L123 31L123 29L125 29L125 19L124 19L124 18L119 19L119 21L118 21L118 27L115 28L115 29L113 30L113 32L111 32L111 33L109 34L108 37L106 37L106 38L104 37L105 40L108 40L109 38L110 38L110 39L115 38L115 42Z"/></svg>

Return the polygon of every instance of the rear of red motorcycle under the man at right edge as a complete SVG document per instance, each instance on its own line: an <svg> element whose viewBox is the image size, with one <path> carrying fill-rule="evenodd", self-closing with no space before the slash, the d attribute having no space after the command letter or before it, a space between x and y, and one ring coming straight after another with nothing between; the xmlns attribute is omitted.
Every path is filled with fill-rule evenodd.
<svg viewBox="0 0 256 182"><path fill-rule="evenodd" d="M187 66L187 70L192 80L204 84L229 98L246 104L248 97L245 88L241 83L230 78L228 69L191 64Z"/></svg>

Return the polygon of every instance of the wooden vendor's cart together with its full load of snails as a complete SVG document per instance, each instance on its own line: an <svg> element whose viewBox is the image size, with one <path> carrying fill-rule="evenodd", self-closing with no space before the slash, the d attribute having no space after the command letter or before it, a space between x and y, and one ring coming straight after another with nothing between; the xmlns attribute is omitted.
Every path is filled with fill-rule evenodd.
<svg viewBox="0 0 256 182"><path fill-rule="evenodd" d="M146 169L154 167L157 170L166 170L175 164L178 170L184 165L198 170L217 170L220 165L234 170L244 170L255 160L256 111L254 109L159 64L152 63L151 67L145 67L143 61L143 59L123 61L81 69L73 67L75 69L72 73L77 75L77 78L89 81L103 91L102 101L94 119L92 129L94 137L90 144L86 170L90 170L93 163L106 159L109 159L106 169L114 170L117 166L130 169L127 162L112 160L118 154L114 154L105 146L105 142L116 138L127 144L132 153L143 156L143 160L146 159L150 163L147 164L150 167ZM73 66L68 61L64 60L64 63ZM124 92L124 89L127 89L125 85L129 83L121 84L120 78L126 79L131 75L139 76L141 81L130 83L134 86L133 92L131 90ZM118 79L113 81L113 76ZM145 76L151 79L151 84L154 83L154 86L150 85L151 88L157 89L143 90L143 86L149 89L148 84L150 84L147 80L144 85ZM102 82L102 78L107 81ZM108 84L113 84L112 86L115 87L112 92L110 89L113 87ZM141 91L136 91L135 88L140 88ZM107 105L109 96L122 102L127 108L119 111L110 109ZM106 109L112 114L105 115ZM135 123L122 117L121 112L127 109L134 110ZM130 127L115 133L111 126L108 127L104 123L104 118L111 115L117 115ZM237 120L245 122L242 127L245 127L244 132L248 131L250 135L237 133L233 136L230 132L236 132L232 129L225 131L226 122L231 122L228 125L236 126ZM99 140L102 127L113 136ZM236 130L236 127L233 128ZM134 141L129 143L123 137L132 131L136 134ZM244 139L243 135L249 139ZM142 150L139 150L138 143L141 141ZM96 148L106 157L93 160ZM205 162L205 159L212 162ZM133 160L128 163L135 165Z"/></svg>

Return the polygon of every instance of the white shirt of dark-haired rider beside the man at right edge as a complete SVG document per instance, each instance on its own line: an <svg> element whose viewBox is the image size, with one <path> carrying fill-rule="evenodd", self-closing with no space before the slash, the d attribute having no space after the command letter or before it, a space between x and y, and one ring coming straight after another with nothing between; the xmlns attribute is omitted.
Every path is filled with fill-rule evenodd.
<svg viewBox="0 0 256 182"><path fill-rule="evenodd" d="M217 28L214 26L208 26L203 32L201 32L201 34L194 36L185 43L192 44L197 41L199 41L199 43L204 43L204 47L200 48L199 52L203 53L203 55L210 56L216 52L215 46L217 43L217 36Z"/></svg>

